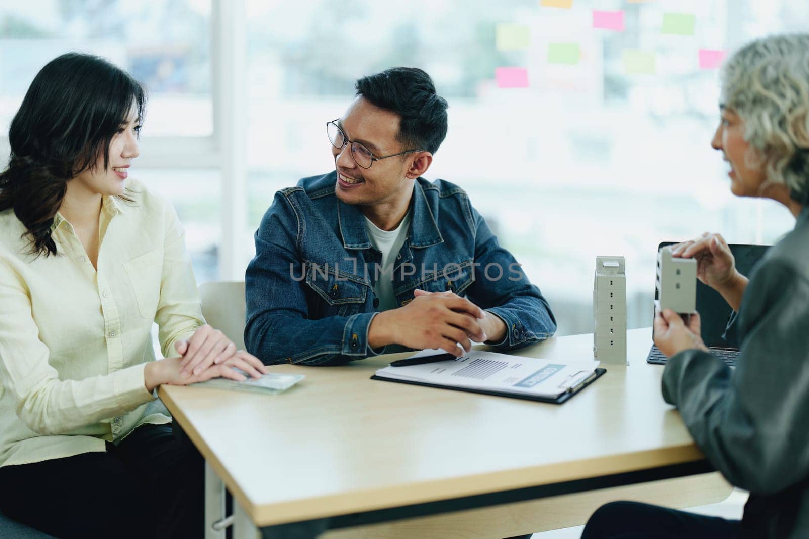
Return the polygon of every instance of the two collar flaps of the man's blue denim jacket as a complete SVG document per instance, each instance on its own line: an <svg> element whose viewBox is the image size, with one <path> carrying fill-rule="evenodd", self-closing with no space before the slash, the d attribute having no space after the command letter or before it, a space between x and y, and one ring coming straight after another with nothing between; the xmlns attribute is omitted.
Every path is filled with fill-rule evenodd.
<svg viewBox="0 0 809 539"><path fill-rule="evenodd" d="M410 209L413 217L408 232L411 247L429 247L442 243L444 238L438 231L438 223L427 204L424 190L418 182L414 182L413 197L410 199ZM337 199L337 215L340 220L340 233L343 237L343 246L346 249L368 249L371 242L365 231L365 220L362 209L355 204L345 204Z"/></svg>

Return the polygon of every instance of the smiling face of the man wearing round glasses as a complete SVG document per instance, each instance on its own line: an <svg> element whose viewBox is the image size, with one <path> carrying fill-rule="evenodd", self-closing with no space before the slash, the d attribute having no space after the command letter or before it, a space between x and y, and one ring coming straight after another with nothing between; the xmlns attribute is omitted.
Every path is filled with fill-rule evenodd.
<svg viewBox="0 0 809 539"><path fill-rule="evenodd" d="M400 118L395 112L383 111L358 97L354 99L345 115L337 124L351 141L356 141L371 150L375 157L396 154L403 148L396 140ZM332 145L337 169L337 198L345 204L386 204L401 196L409 196L413 190L413 175L410 165L417 154L380 159L362 168L351 155L351 145L338 149Z"/></svg>

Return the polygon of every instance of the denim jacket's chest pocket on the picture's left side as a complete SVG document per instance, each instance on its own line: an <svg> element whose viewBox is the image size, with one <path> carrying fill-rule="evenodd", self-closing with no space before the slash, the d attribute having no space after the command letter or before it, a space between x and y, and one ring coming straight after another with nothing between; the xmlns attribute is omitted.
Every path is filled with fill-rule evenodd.
<svg viewBox="0 0 809 539"><path fill-rule="evenodd" d="M365 304L368 285L349 279L334 267L307 263L306 284L315 293L318 317L351 316Z"/></svg>

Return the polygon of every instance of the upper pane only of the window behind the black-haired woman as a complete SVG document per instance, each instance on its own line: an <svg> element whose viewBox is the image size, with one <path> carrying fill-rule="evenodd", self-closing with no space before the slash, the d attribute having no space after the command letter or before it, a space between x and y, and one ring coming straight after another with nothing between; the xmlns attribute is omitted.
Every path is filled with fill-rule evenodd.
<svg viewBox="0 0 809 539"><path fill-rule="evenodd" d="M0 132L36 72L70 50L95 53L149 89L143 136L210 137L210 1L35 0L0 10Z"/></svg>

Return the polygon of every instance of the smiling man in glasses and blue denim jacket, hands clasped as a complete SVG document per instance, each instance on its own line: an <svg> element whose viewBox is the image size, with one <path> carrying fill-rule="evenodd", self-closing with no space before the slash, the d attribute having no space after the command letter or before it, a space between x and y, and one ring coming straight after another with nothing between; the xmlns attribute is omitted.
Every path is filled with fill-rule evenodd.
<svg viewBox="0 0 809 539"><path fill-rule="evenodd" d="M428 74L360 79L327 132L336 170L277 192L256 232L249 352L265 364L343 364L553 335L548 302L463 189L421 178L447 136L447 101Z"/></svg>

